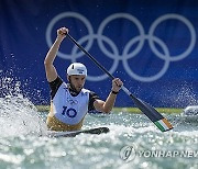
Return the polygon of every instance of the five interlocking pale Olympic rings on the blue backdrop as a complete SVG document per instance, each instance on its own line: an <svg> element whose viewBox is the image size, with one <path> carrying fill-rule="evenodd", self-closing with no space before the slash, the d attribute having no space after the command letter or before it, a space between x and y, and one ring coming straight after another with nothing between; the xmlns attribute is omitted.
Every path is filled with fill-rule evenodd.
<svg viewBox="0 0 198 169"><path fill-rule="evenodd" d="M143 81L143 82L155 81L155 80L160 79L161 77L163 77L163 75L167 71L167 69L169 67L169 63L178 61L178 60L182 60L185 57L187 57L191 53L191 50L194 49L195 44L196 44L196 31L195 31L193 24L183 15L175 14L175 13L168 13L168 14L157 18L152 23L147 34L145 34L144 27L142 26L141 22L133 15L131 15L129 13L114 13L114 14L109 15L101 22L97 34L95 34L90 22L85 16L82 16L81 14L76 13L76 12L64 12L64 13L56 15L50 22L50 24L47 26L46 42L50 47L53 44L52 40L51 40L51 33L52 33L53 26L55 25L56 22L58 22L59 20L62 20L64 18L78 19L86 25L88 35L81 37L78 41L78 43L82 44L84 42L88 41L87 45L85 46L85 49L89 50L94 44L94 41L96 40L99 45L100 50L107 57L113 59L113 65L109 69L110 74L113 74L117 70L119 61L122 61L123 67L124 67L125 71L129 74L129 76L134 78L135 80ZM119 54L119 49L118 49L117 45L114 44L114 42L112 40L110 40L108 36L105 36L102 34L106 25L109 22L117 20L117 19L127 19L127 20L131 21L133 24L135 24L135 26L138 27L139 33L140 33L140 35L133 37L132 40L130 40L128 42L128 44L125 45L125 47L123 48L121 54ZM183 22L188 27L189 33L190 33L190 43L189 43L187 49L177 56L172 56L167 45L161 38L158 38L157 36L154 35L155 29L157 27L157 25L160 23L162 23L166 20L170 20L170 19ZM150 45L152 52L155 54L155 56L164 60L163 68L156 75L153 75L150 77L142 77L140 75L136 75L135 72L133 72L133 70L131 70L131 68L128 64L128 59L133 58L141 52L145 41L148 42L148 45ZM111 47L112 52L110 52L106 48L106 46L103 45L103 42L106 42ZM134 45L136 42L139 42L136 48L130 53L131 46ZM163 53L161 53L156 48L155 44L157 44L163 49ZM72 53L69 55L61 53L61 52L58 52L57 55L64 59L70 59L74 63L74 61L76 61L77 58L81 57L84 54L79 53L79 52L77 53L77 47L74 46L72 49ZM87 79L90 81L101 81L101 80L106 79L107 77L108 77L107 75L101 75L101 76L97 76L97 77L88 75Z"/></svg>

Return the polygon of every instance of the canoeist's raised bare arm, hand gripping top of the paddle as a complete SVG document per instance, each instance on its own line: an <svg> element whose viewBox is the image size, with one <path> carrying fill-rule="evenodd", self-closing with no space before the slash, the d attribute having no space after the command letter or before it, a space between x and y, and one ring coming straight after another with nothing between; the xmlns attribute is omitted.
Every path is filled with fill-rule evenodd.
<svg viewBox="0 0 198 169"><path fill-rule="evenodd" d="M57 78L57 71L53 63L59 49L62 41L66 37L66 33L68 33L68 29L66 27L57 30L57 37L45 57L44 65L48 82L54 81Z"/></svg>

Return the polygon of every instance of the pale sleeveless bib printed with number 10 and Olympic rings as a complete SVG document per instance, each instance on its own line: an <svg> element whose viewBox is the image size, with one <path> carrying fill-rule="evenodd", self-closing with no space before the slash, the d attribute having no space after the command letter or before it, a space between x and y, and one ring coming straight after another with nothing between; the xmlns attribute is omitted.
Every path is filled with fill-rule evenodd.
<svg viewBox="0 0 198 169"><path fill-rule="evenodd" d="M68 125L79 123L88 112L89 92L87 89L81 89L78 95L73 97L67 84L63 82L52 100L55 117Z"/></svg>

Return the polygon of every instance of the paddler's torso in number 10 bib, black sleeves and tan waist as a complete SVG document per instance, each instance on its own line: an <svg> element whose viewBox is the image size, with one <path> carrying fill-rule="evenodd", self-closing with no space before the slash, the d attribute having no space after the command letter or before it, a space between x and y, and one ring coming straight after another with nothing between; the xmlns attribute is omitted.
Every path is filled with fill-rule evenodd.
<svg viewBox="0 0 198 169"><path fill-rule="evenodd" d="M87 89L70 93L69 86L57 77L50 82L51 111L47 115L47 127L53 131L76 131L82 126L86 113L95 110L94 102L99 97Z"/></svg>

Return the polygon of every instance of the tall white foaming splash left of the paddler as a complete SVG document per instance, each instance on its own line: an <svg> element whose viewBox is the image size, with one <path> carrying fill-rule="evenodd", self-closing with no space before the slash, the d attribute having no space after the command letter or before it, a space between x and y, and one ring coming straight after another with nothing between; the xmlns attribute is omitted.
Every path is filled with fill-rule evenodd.
<svg viewBox="0 0 198 169"><path fill-rule="evenodd" d="M34 104L20 91L20 82L12 78L0 81L0 136L19 136L26 134L42 135L46 132L45 123L37 114Z"/></svg>

